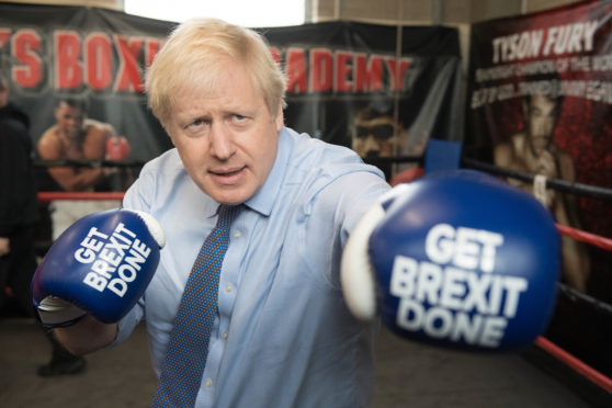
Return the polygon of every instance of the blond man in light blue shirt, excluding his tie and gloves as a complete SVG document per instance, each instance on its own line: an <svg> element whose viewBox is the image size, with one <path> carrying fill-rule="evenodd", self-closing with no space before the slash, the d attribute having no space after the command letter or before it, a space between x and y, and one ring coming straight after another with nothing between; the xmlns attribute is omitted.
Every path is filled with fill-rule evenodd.
<svg viewBox="0 0 612 408"><path fill-rule="evenodd" d="M349 234L389 186L350 149L283 126L285 79L268 49L216 20L172 33L146 89L175 149L145 166L124 200L162 225L159 267L118 325L88 315L55 332L86 353L124 341L144 318L163 378L178 363L165 359L202 241L219 207L239 207L195 406L365 407L375 327L351 316L339 268Z"/></svg>

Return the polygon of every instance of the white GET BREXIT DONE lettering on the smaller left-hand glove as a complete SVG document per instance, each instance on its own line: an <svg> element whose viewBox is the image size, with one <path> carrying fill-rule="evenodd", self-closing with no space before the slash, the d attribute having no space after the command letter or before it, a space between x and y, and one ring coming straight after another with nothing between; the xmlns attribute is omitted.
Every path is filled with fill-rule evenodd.
<svg viewBox="0 0 612 408"><path fill-rule="evenodd" d="M151 249L120 223L111 236L92 227L75 251L80 263L91 263L83 283L99 292L111 291L123 297L134 282Z"/></svg>

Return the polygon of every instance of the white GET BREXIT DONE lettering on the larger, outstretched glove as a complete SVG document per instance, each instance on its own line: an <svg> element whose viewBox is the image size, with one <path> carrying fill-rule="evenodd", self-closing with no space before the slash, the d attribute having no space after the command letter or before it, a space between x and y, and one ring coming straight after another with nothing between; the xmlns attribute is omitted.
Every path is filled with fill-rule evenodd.
<svg viewBox="0 0 612 408"><path fill-rule="evenodd" d="M523 277L495 271L501 234L447 224L426 238L429 260L396 256L389 292L400 298L397 325L428 336L498 347L528 290Z"/></svg>

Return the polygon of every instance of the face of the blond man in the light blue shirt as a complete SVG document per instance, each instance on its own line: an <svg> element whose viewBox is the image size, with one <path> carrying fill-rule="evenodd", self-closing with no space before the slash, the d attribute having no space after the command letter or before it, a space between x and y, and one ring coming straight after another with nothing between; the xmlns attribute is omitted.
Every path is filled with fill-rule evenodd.
<svg viewBox="0 0 612 408"><path fill-rule="evenodd" d="M166 131L194 182L215 201L239 204L263 185L276 158L281 105L271 113L242 66L228 61L216 88L177 99Z"/></svg>

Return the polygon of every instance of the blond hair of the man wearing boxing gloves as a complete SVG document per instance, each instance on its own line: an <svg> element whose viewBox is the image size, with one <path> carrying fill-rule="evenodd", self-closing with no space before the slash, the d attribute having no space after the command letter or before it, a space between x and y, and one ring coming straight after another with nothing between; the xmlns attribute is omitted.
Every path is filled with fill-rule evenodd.
<svg viewBox="0 0 612 408"><path fill-rule="evenodd" d="M275 116L279 106L285 105L286 84L268 43L252 30L215 19L180 24L155 57L145 82L154 115L166 125L182 91L213 90L228 59L243 64L253 87Z"/></svg>

